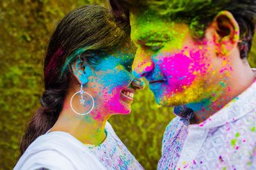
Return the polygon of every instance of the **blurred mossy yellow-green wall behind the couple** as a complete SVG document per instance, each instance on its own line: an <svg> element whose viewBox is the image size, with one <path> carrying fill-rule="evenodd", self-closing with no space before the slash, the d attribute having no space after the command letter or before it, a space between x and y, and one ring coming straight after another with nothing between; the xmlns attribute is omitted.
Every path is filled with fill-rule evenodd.
<svg viewBox="0 0 256 170"><path fill-rule="evenodd" d="M12 169L19 141L43 92L45 48L56 24L70 10L105 0L1 0L0 1L0 169ZM256 66L256 49L250 63ZM252 57L253 56L253 57ZM156 169L164 128L172 120L171 108L159 108L146 88L137 92L130 115L109 120L116 134L145 169Z"/></svg>

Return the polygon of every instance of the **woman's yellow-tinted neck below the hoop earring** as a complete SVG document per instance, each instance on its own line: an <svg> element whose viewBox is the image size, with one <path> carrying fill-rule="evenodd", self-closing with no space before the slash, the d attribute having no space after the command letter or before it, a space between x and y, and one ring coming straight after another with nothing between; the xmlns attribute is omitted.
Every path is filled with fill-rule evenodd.
<svg viewBox="0 0 256 170"><path fill-rule="evenodd" d="M51 132L68 132L82 143L100 145L106 138L105 125L109 117L95 118L93 115L103 115L101 113L95 113L95 111L92 111L88 115L76 115L67 106L64 105L63 111L61 111Z"/></svg>

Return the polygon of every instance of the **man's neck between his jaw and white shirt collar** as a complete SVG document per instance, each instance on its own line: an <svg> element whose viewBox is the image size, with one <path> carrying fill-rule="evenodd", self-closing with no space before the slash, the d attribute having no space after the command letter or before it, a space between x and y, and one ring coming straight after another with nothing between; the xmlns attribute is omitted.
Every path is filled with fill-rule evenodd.
<svg viewBox="0 0 256 170"><path fill-rule="evenodd" d="M213 101L212 98L209 98L200 101L200 103L188 104L194 110L194 117L190 123L199 124L204 122L204 120L214 115L214 113L221 110L232 99L248 89L253 81L255 81L255 73L253 73L250 66L244 65L241 69L234 69L230 73L227 86L219 93L217 99Z"/></svg>

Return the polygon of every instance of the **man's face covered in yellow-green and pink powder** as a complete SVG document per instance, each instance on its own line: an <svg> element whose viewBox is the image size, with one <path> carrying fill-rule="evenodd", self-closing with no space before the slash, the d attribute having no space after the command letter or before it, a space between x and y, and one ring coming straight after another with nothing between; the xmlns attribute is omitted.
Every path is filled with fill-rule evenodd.
<svg viewBox="0 0 256 170"><path fill-rule="evenodd" d="M211 38L195 41L188 25L150 11L130 18L131 38L138 46L132 69L149 81L157 103L199 102L221 91L223 60L217 59Z"/></svg>

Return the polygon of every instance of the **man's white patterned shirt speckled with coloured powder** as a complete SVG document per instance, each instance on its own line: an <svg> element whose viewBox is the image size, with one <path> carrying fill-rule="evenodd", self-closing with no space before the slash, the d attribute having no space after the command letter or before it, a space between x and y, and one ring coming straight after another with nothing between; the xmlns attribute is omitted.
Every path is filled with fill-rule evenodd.
<svg viewBox="0 0 256 170"><path fill-rule="evenodd" d="M174 118L157 169L256 169L256 81L201 124Z"/></svg>

